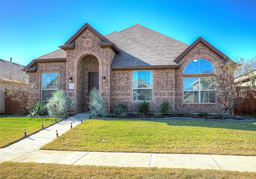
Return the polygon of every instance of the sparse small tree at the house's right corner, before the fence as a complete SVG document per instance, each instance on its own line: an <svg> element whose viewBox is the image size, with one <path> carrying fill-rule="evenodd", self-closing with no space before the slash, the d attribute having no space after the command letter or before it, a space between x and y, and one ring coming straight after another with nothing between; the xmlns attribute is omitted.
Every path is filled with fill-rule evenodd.
<svg viewBox="0 0 256 179"><path fill-rule="evenodd" d="M250 93L256 97L256 86L252 85L255 79L253 64L256 58L245 61L243 58L234 63L232 60L219 63L216 66L220 81L217 82L217 101L222 103L229 115L234 114L234 108L249 98ZM244 82L247 83L244 83Z"/></svg>

